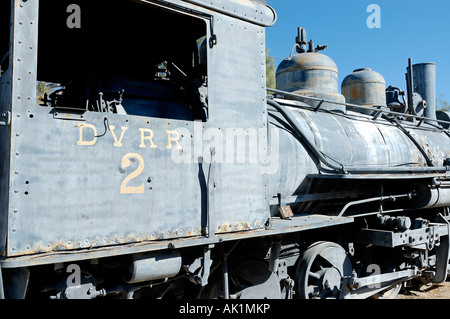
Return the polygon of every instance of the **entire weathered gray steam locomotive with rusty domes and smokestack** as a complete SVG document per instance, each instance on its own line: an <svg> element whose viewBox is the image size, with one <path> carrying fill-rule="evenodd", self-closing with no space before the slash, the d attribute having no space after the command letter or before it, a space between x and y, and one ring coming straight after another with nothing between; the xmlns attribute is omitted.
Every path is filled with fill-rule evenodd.
<svg viewBox="0 0 450 319"><path fill-rule="evenodd" d="M0 3L1 298L387 298L446 280L449 114L338 85L262 0ZM36 97L36 81L57 89ZM270 95L267 92L270 91Z"/></svg>

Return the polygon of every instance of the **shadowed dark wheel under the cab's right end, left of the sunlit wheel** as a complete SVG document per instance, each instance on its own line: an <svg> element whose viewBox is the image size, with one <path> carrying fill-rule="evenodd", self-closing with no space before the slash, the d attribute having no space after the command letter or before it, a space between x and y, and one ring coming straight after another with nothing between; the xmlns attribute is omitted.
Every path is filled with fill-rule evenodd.
<svg viewBox="0 0 450 319"><path fill-rule="evenodd" d="M278 278L261 259L241 261L228 272L230 299L279 299ZM206 288L206 299L224 298L223 274L218 271Z"/></svg>

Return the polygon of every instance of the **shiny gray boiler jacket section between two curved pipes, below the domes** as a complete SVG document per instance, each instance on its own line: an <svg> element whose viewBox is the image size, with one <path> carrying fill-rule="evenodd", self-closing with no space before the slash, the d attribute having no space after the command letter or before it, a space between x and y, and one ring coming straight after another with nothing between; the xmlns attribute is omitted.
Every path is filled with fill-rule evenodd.
<svg viewBox="0 0 450 319"><path fill-rule="evenodd" d="M397 166L423 162L410 140L391 124L339 114L298 110L298 120L314 132L316 146L351 166Z"/></svg>

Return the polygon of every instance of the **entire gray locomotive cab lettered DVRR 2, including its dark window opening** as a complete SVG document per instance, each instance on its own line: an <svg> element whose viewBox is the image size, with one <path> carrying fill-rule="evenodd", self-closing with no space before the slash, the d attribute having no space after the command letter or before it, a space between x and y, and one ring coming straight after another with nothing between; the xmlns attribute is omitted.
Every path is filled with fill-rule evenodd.
<svg viewBox="0 0 450 319"><path fill-rule="evenodd" d="M189 269L205 285L216 234L264 229L268 186L248 142L267 144L264 27L276 16L263 1L11 0L0 14L7 297L83 260L91 273L120 265L121 278L164 259L163 275L134 267L132 284ZM183 254L192 265L167 251L180 239L199 247ZM122 293L116 279L108 294Z"/></svg>

